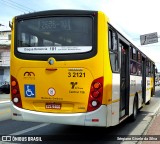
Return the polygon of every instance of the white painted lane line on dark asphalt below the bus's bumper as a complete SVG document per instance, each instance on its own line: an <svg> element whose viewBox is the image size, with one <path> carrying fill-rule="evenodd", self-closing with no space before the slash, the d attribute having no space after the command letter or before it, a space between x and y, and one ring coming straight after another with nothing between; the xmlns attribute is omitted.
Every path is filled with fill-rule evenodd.
<svg viewBox="0 0 160 144"><path fill-rule="evenodd" d="M22 131L18 131L18 132L12 133L12 134L10 134L10 135L21 135L21 134L24 134L24 133L27 133L27 132L30 132L30 131L39 129L39 128L41 128L41 127L45 127L45 126L47 126L47 125L49 125L49 123L40 124L40 125L38 125L38 126L34 126L34 127L31 127L31 128L22 130Z"/></svg>

